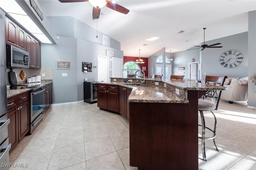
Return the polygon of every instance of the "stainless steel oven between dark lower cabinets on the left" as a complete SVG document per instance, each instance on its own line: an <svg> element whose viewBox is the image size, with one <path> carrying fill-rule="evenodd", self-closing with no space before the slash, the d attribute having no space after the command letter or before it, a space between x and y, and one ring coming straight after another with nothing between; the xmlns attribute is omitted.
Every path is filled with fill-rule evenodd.
<svg viewBox="0 0 256 170"><path fill-rule="evenodd" d="M30 92L30 134L36 129L44 116L44 86L37 85Z"/></svg>

